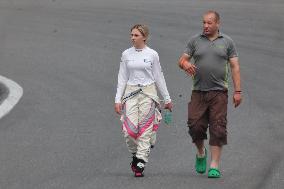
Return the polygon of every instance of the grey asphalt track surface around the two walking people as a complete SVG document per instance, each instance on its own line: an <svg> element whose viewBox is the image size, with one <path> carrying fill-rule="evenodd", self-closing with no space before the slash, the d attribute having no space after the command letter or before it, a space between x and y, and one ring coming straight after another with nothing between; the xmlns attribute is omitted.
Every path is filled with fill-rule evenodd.
<svg viewBox="0 0 284 189"><path fill-rule="evenodd" d="M218 180L194 172L185 124L192 82L176 65L208 9L237 44L244 91L235 109L230 89ZM283 12L282 0L1 0L0 74L25 93L0 121L0 188L283 188ZM113 103L120 55L140 22L175 109L137 179Z"/></svg>

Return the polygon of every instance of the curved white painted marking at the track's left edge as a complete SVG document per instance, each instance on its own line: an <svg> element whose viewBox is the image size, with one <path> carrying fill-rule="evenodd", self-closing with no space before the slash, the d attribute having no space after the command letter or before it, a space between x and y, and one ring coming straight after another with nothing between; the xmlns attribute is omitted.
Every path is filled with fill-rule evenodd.
<svg viewBox="0 0 284 189"><path fill-rule="evenodd" d="M0 119L7 115L23 96L23 88L16 82L0 75L0 82L7 87L8 95L0 104Z"/></svg>

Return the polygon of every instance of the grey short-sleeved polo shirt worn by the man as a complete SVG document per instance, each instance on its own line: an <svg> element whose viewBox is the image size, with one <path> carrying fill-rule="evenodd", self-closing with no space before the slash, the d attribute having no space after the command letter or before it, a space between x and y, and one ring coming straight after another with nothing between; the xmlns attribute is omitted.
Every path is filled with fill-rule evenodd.
<svg viewBox="0 0 284 189"><path fill-rule="evenodd" d="M222 33L210 41L205 35L198 34L190 38L185 53L194 60L197 67L193 77L193 90L227 90L228 61L237 57L233 40Z"/></svg>

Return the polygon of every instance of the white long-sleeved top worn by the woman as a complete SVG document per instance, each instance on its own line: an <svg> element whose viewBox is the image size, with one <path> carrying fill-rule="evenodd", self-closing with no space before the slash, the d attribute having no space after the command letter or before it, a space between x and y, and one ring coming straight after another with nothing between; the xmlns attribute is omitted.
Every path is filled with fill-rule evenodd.
<svg viewBox="0 0 284 189"><path fill-rule="evenodd" d="M150 85L155 83L165 103L171 101L158 53L146 46L131 47L121 56L115 103L121 103L126 85Z"/></svg>

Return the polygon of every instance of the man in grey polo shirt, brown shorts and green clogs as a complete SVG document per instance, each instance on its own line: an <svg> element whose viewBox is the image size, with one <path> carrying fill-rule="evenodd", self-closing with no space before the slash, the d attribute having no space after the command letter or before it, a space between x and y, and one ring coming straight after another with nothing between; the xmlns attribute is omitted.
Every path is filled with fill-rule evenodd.
<svg viewBox="0 0 284 189"><path fill-rule="evenodd" d="M238 54L233 40L219 31L220 16L215 11L203 15L203 33L190 38L178 65L192 76L193 90L188 104L188 127L197 147L195 169L206 172L207 128L210 134L209 178L219 178L222 146L227 144L228 65L234 83L233 103L242 100ZM193 58L194 61L191 61Z"/></svg>

